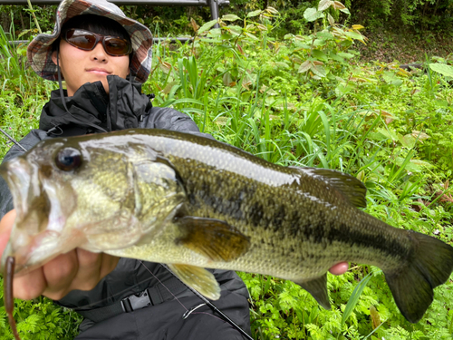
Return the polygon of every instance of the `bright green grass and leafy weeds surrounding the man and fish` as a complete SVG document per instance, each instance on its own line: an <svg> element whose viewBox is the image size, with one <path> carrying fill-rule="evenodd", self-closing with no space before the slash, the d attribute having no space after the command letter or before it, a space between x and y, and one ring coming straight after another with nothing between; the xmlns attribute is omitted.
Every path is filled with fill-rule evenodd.
<svg viewBox="0 0 453 340"><path fill-rule="evenodd" d="M184 45L155 45L144 85L145 92L156 94L154 104L187 112L200 130L265 160L348 172L368 189L368 213L453 244L451 46L439 54L421 53L420 68L363 57L376 55L370 53L372 39L364 36L369 34L363 34L366 24L370 33L391 26L417 39L426 38L426 27L451 34L451 1L231 2L218 29L202 8L125 8L156 35L195 37ZM5 15L8 11L13 16ZM40 28L50 30L53 11L35 11ZM28 67L25 45L8 44L37 33L30 12L2 6L0 13L7 23L2 24L6 33L0 31L0 126L20 140L37 128L43 103L56 87ZM0 158L10 147L0 136ZM256 339L453 335L451 277L412 325L400 315L376 267L352 264L345 275L329 275L329 311L292 282L241 276L251 294ZM43 297L17 300L15 306L23 339L77 334L80 316ZM12 338L4 308L0 338Z"/></svg>

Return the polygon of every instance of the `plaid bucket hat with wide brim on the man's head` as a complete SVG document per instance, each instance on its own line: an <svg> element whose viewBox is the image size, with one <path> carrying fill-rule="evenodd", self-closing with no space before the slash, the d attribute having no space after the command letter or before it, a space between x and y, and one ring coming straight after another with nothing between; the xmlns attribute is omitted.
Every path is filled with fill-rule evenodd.
<svg viewBox="0 0 453 340"><path fill-rule="evenodd" d="M101 15L121 24L130 35L133 55L130 60L130 71L135 80L145 83L151 69L152 34L139 22L128 18L120 10L106 0L63 0L58 6L56 23L52 34L38 34L28 45L28 62L43 79L57 81L57 66L52 61L52 44L60 36L62 26L77 15Z"/></svg>

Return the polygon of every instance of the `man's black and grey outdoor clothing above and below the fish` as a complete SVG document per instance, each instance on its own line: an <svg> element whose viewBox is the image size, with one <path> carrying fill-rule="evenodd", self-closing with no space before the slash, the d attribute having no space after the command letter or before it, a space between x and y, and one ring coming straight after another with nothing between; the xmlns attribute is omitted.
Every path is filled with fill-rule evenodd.
<svg viewBox="0 0 453 340"><path fill-rule="evenodd" d="M20 144L28 150L38 141L62 135L137 127L185 131L212 138L201 133L186 114L152 107L149 97L141 93L140 84L131 84L118 76L108 76L108 81L110 94L104 91L101 82L82 85L73 97L66 98L69 112L64 109L59 92L52 92L51 100L43 107L40 129L31 131ZM22 153L14 146L3 161ZM11 209L14 209L11 193L0 178L0 219ZM250 333L246 286L232 271L213 270L213 273L222 287L222 297L215 305ZM150 306L128 313L122 311L143 302ZM91 291L74 290L56 303L85 316L77 339L243 338L207 306L201 306L184 319L186 310L202 301L162 265L130 258L121 258L111 274Z"/></svg>

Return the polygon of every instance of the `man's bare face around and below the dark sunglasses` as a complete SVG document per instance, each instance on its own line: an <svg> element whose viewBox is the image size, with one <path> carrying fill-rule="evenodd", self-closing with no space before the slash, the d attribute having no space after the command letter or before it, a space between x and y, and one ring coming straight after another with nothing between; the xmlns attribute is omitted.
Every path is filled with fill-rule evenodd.
<svg viewBox="0 0 453 340"><path fill-rule="evenodd" d="M56 64L57 52L52 53L53 63ZM126 78L130 73L129 55L112 56L107 54L102 42L96 44L92 51L84 51L68 44L63 39L60 42L60 69L66 82L68 97L84 84L101 81L109 93L107 75L118 75Z"/></svg>

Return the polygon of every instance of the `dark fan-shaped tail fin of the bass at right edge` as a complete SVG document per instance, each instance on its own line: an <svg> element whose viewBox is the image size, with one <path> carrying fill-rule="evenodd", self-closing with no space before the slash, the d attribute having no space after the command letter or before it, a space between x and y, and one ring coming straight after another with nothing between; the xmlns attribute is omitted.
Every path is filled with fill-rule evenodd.
<svg viewBox="0 0 453 340"><path fill-rule="evenodd" d="M453 270L453 248L413 231L410 238L415 248L405 267L384 274L401 314L417 323L433 300L433 288L445 283Z"/></svg>

